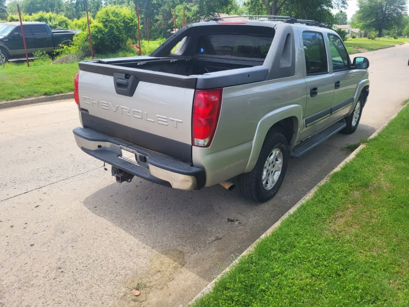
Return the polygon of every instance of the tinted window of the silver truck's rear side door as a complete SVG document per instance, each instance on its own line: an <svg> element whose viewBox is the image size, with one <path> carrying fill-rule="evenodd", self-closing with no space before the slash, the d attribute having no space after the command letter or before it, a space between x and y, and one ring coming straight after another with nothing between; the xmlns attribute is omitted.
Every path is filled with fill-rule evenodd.
<svg viewBox="0 0 409 307"><path fill-rule="evenodd" d="M304 32L303 42L307 75L328 73L327 52L322 33Z"/></svg>

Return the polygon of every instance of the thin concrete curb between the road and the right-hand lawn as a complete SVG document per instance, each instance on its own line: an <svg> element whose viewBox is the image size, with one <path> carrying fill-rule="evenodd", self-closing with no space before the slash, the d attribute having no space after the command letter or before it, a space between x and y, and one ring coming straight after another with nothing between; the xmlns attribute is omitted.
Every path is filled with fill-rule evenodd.
<svg viewBox="0 0 409 307"><path fill-rule="evenodd" d="M402 105L399 110L388 120L386 121L382 126L380 126L368 139L373 139L374 137L376 137L380 131L382 131L398 114L400 111L402 111L402 109L409 104L406 103L404 105ZM226 273L228 273L229 271L231 271L236 264L239 262L239 260L244 257L245 255L247 255L248 253L251 253L254 248L256 247L256 245L266 236L268 236L269 234L271 234L273 231L275 231L280 225L281 223L289 216L291 215L293 212L295 212L301 205L303 205L306 201L308 201L309 199L312 198L312 196L314 196L315 191L322 186L323 184L325 184L326 182L328 182L329 178L332 176L332 174L338 170L340 170L341 168L344 167L345 164L347 164L349 161L351 161L353 158L355 158L355 156L358 154L359 151L362 150L363 147L365 147L366 144L361 144L358 146L358 148L356 148L347 158L345 158L341 163L338 164L337 167L335 167L327 176L325 176L325 178L323 180L321 180L319 183L317 183L307 194L305 194L305 196L294 206L291 207L290 210L288 210L281 218L280 220L278 220L276 223L274 223L269 229L267 229L251 246L249 246L236 260L234 260L232 262L232 264L227 267L223 272L221 272L219 275L216 276L215 279L213 279L208 286L203 289L202 291L200 291L200 293L198 295L196 295L188 304L187 306L192 305L196 300L200 299L202 296L204 296L205 294L211 292L215 286L215 283Z"/></svg>

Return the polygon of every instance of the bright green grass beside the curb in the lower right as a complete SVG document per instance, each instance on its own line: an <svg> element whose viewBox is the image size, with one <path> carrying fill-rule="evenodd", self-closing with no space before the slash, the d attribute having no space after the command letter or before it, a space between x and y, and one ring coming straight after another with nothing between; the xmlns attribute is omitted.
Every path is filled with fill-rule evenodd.
<svg viewBox="0 0 409 307"><path fill-rule="evenodd" d="M194 306L409 306L409 107Z"/></svg>

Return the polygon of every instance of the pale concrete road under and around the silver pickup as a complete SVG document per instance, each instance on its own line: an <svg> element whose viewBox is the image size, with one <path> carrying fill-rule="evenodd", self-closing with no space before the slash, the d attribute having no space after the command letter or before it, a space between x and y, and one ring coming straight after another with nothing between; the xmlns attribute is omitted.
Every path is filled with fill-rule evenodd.
<svg viewBox="0 0 409 307"><path fill-rule="evenodd" d="M409 44L364 55L371 92L358 130L292 159L262 205L220 186L115 183L76 146L73 100L0 109L0 306L188 303L409 98Z"/></svg>

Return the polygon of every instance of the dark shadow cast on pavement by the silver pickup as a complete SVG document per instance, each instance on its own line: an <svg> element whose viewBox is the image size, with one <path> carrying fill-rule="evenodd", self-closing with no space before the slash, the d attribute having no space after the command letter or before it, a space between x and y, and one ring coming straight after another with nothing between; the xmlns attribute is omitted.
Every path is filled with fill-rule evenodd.
<svg viewBox="0 0 409 307"><path fill-rule="evenodd" d="M291 159L281 189L263 204L244 199L238 187L181 191L137 177L108 185L83 204L158 253L177 255L181 266L210 282L348 156L340 143L359 142L374 129L359 130Z"/></svg>

